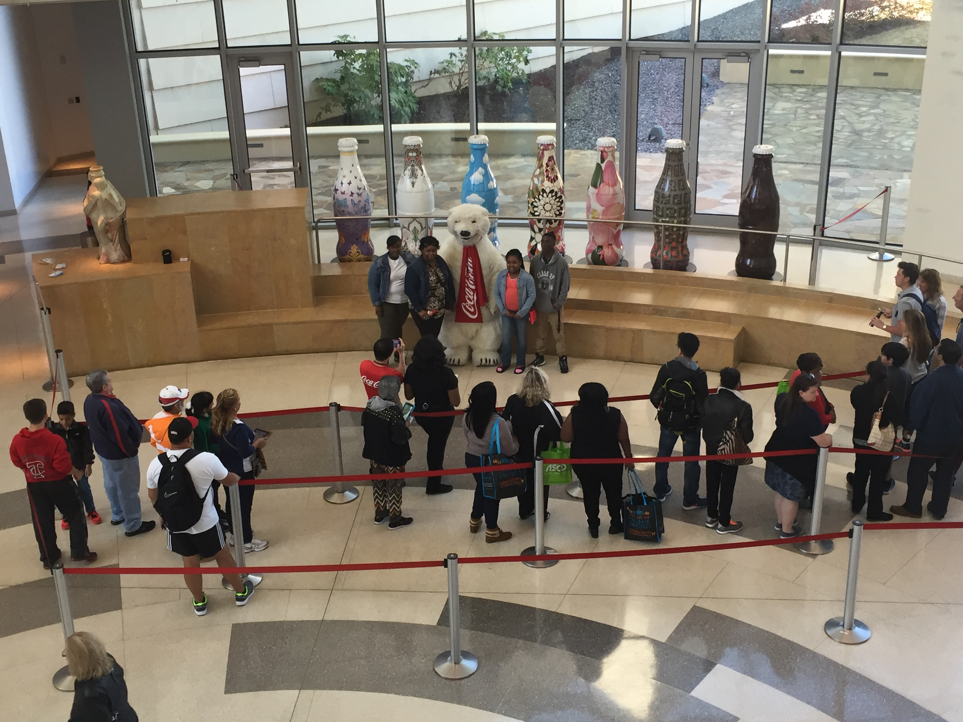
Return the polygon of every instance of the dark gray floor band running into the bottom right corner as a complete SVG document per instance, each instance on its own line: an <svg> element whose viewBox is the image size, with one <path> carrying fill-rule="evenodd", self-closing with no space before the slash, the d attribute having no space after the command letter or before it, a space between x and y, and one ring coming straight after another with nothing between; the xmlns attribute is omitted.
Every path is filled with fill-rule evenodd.
<svg viewBox="0 0 963 722"><path fill-rule="evenodd" d="M667 642L766 683L841 722L940 720L832 659L700 606L690 609Z"/></svg>

